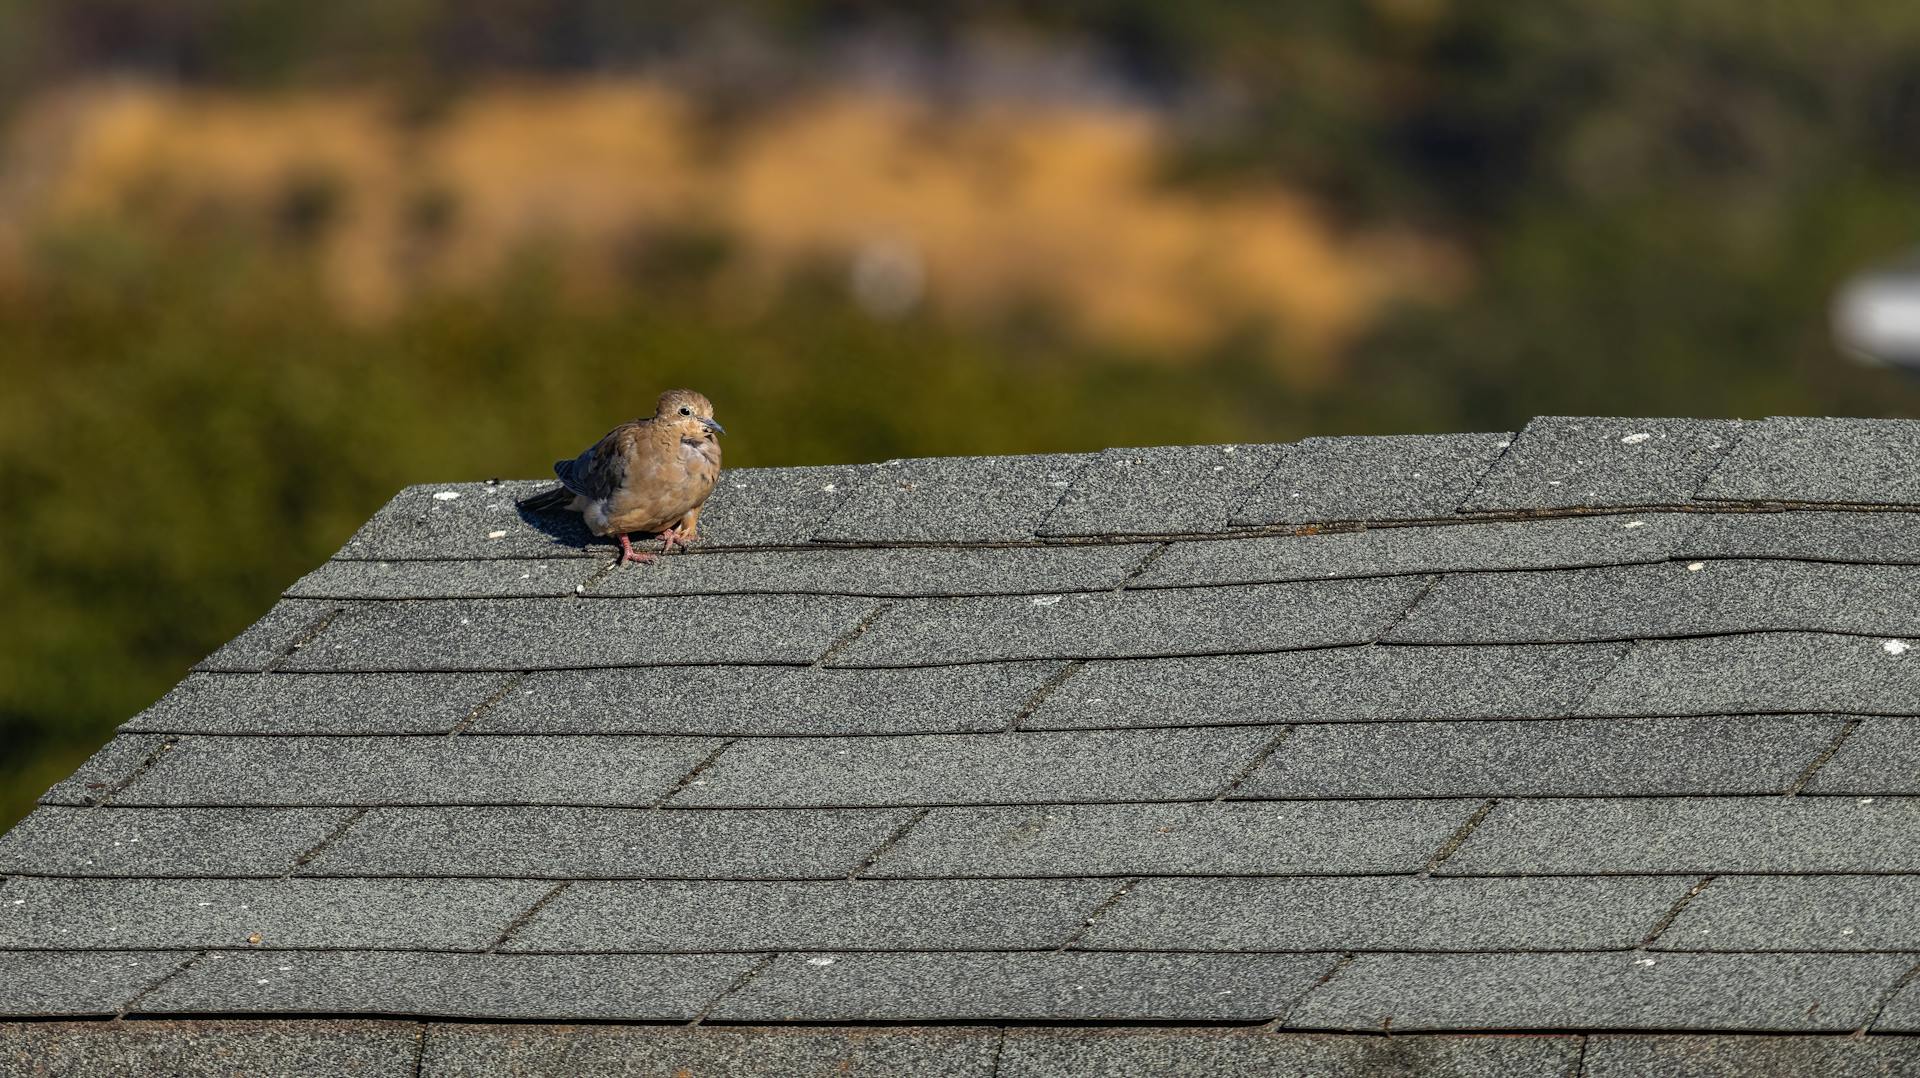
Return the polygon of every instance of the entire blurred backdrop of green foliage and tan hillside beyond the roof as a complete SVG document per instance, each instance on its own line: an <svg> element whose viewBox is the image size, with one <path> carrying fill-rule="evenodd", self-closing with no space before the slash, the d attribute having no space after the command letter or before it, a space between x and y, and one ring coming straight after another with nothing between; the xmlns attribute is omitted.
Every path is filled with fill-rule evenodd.
<svg viewBox="0 0 1920 1078"><path fill-rule="evenodd" d="M1901 0L0 4L0 824L407 482L1912 415Z"/></svg>

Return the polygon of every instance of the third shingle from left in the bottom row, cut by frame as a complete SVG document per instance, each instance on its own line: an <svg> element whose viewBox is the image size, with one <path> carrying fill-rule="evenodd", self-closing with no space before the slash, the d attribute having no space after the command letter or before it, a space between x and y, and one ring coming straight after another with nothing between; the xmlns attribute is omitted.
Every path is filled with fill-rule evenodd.
<svg viewBox="0 0 1920 1078"><path fill-rule="evenodd" d="M998 1076L1569 1078L1578 1059L1580 1040L1571 1036L1014 1028L1006 1032Z"/></svg>

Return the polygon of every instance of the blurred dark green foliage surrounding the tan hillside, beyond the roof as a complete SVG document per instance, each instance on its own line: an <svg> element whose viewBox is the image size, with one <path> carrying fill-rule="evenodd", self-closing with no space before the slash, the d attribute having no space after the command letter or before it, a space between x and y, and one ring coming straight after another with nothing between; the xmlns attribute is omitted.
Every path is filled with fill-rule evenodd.
<svg viewBox="0 0 1920 1078"><path fill-rule="evenodd" d="M874 321L829 275L726 317L699 292L724 244L634 267L628 298L593 313L528 256L486 292L369 327L332 313L284 240L40 234L29 282L0 292L0 822L401 484L540 475L664 386L716 400L732 465L1920 404L1826 340L1836 282L1920 238L1910 4L1092 0L906 17L762 0L726 15L801 56L866 23L935 50L981 21L1094 42L1169 108L1200 100L1167 183L1304 184L1352 221L1455 238L1473 284L1390 311L1300 386L1256 331L1169 357L1077 342L1044 311ZM643 63L712 23L707 6L601 0L0 4L0 94L127 65L455 92Z"/></svg>

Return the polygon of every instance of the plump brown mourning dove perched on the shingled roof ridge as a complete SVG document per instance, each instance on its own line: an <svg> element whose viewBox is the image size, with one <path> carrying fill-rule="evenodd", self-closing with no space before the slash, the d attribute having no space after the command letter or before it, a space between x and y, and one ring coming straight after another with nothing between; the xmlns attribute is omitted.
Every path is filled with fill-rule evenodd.
<svg viewBox="0 0 1920 1078"><path fill-rule="evenodd" d="M570 509L597 536L618 536L620 561L653 561L628 532L659 532L660 553L697 536L701 505L720 478L714 405L693 390L660 394L653 419L630 419L591 450L555 461L561 486L520 502L522 509Z"/></svg>

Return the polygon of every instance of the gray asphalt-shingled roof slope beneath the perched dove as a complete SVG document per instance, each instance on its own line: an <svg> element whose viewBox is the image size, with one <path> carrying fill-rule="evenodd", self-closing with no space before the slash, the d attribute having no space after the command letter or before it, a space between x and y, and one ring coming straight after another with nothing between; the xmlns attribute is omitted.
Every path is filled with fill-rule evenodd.
<svg viewBox="0 0 1920 1078"><path fill-rule="evenodd" d="M0 1015L428 1074L770 1022L829 1028L768 1070L1916 1066L1916 461L1546 417L730 471L645 567L409 488L0 838ZM342 1015L432 1026L232 1022ZM958 1026L843 1028L893 1022ZM94 1030L0 1059L165 1055Z"/></svg>

